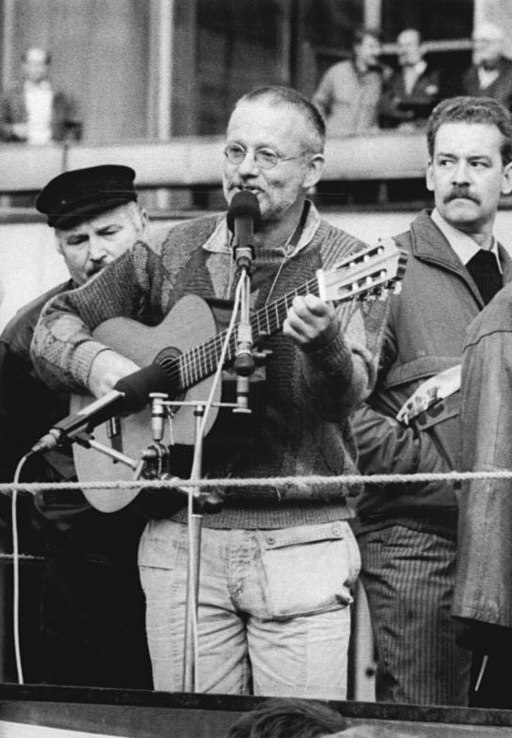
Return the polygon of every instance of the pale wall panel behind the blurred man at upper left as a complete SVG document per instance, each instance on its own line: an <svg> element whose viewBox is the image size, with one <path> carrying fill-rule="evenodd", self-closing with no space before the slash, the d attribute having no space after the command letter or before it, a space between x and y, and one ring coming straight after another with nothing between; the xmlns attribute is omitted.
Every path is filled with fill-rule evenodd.
<svg viewBox="0 0 512 738"><path fill-rule="evenodd" d="M23 51L42 46L52 53L54 86L78 105L86 142L147 137L149 2L11 0L5 6L5 87L19 79Z"/></svg>

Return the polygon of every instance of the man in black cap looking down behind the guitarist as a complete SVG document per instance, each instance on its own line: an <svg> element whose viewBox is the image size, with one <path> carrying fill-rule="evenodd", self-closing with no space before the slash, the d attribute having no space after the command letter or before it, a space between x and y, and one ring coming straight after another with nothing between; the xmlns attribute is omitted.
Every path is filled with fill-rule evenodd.
<svg viewBox="0 0 512 738"><path fill-rule="evenodd" d="M69 413L69 398L47 387L34 370L32 334L50 298L85 284L145 234L147 215L137 203L134 178L126 166L77 169L52 179L36 200L55 231L70 279L21 308L0 336L1 482L12 481L20 458ZM58 450L29 459L22 481L76 481L71 453ZM44 555L40 613L28 602L33 592L21 587L27 597L25 607L21 603L26 680L150 687L136 567L144 522L131 510L98 513L81 492L39 492L18 503L21 550ZM8 539L7 498L0 515L7 521ZM34 623L37 637L30 612L40 620Z"/></svg>

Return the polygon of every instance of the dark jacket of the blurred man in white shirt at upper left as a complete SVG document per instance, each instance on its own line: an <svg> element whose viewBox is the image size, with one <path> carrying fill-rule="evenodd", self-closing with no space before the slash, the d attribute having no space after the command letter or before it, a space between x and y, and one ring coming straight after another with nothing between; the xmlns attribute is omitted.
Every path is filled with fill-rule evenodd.
<svg viewBox="0 0 512 738"><path fill-rule="evenodd" d="M20 139L13 131L16 123L27 122L27 106L23 85L16 85L0 98L0 140L16 142ZM74 101L62 90L55 90L52 106L52 141L78 140L81 123Z"/></svg>

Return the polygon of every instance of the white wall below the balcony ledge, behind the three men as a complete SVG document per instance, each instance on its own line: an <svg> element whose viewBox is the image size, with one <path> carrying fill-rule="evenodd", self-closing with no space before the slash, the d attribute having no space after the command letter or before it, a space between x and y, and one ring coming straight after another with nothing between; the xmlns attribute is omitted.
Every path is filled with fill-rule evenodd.
<svg viewBox="0 0 512 738"><path fill-rule="evenodd" d="M328 213L326 218L362 240L375 243L379 237L407 230L414 216L413 212L342 212ZM165 225L158 223L159 227ZM512 210L498 213L495 232L512 253ZM53 230L44 223L0 225L0 265L0 295L4 294L0 329L19 307L67 278Z"/></svg>

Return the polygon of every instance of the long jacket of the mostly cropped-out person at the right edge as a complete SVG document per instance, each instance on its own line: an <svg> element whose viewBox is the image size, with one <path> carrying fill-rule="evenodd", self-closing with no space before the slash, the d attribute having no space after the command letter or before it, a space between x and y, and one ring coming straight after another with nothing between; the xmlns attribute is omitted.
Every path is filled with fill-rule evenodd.
<svg viewBox="0 0 512 738"><path fill-rule="evenodd" d="M512 469L512 285L468 330L462 364L462 460L467 471ZM453 612L466 645L512 646L512 480L463 487ZM506 631L505 631L506 629Z"/></svg>

